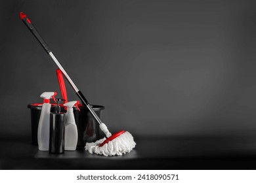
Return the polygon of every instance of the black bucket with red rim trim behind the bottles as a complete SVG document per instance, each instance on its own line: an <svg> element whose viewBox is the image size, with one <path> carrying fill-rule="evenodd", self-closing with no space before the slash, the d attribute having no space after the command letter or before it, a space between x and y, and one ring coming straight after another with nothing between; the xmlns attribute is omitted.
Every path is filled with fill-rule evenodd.
<svg viewBox="0 0 256 183"><path fill-rule="evenodd" d="M51 112L54 112L55 105L56 104L52 104ZM104 106L91 105L91 107L100 118ZM33 103L28 105L28 108L30 108L31 115L32 143L37 145L37 129L41 115L42 104ZM100 139L100 129L98 122L96 122L95 118L91 112L89 112L87 107L79 105L79 108L80 112L77 110L77 108L74 107L75 124L77 125L78 132L77 147L84 147L86 142L95 142L96 140ZM66 112L64 107L62 107L62 112Z"/></svg>

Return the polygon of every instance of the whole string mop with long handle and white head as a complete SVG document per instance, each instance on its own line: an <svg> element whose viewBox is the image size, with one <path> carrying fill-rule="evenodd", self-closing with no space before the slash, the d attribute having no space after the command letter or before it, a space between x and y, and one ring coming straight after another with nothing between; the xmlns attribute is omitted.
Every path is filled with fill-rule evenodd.
<svg viewBox="0 0 256 183"><path fill-rule="evenodd" d="M104 123L101 122L100 118L97 116L87 99L85 99L85 96L83 93L78 90L77 86L75 86L74 82L68 76L62 65L58 62L58 59L54 56L52 50L47 46L46 42L43 40L43 38L39 35L35 27L32 25L32 22L30 19L24 14L24 12L20 12L20 19L24 24L30 29L30 31L33 33L37 41L40 42L41 46L45 49L47 54L53 59L54 63L57 65L57 67L62 71L62 74L66 77L72 88L75 90L75 93L81 99L83 105L85 105L88 110L91 112L93 117L95 118L96 122L98 122L100 129L105 133L106 138L101 139L99 141L96 141L94 143L87 143L85 145L85 150L88 150L91 154L100 154L104 156L121 156L123 154L126 154L128 152L131 152L133 148L135 148L135 141L133 140L133 136L128 131L119 131L112 135L110 131L108 131L108 127Z"/></svg>

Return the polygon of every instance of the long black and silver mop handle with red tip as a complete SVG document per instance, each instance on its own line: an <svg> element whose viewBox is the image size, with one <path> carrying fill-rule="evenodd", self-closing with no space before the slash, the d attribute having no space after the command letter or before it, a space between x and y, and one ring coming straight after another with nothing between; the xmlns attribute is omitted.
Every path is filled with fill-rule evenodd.
<svg viewBox="0 0 256 183"><path fill-rule="evenodd" d="M58 59L56 59L56 57L54 56L54 54L51 51L51 49L49 48L49 46L47 46L46 42L43 41L43 38L39 35L39 33L37 32L35 27L32 25L32 22L30 21L30 19L28 19L26 14L24 14L24 12L20 12L20 19L22 20L22 22L24 22L24 24L28 27L28 29L30 29L32 34L37 39L37 41L39 41L41 46L43 46L43 48L45 49L47 54L49 54L49 56L51 56L54 63L57 65L57 67L60 69L60 71L62 71L63 75L66 77L66 79L68 80L68 82L70 83L72 88L75 90L75 93L77 94L77 96L81 99L82 103L88 108L88 110L91 112L91 114L93 114L93 117L98 122L98 124L99 125L103 124L101 122L100 118L98 118L98 116L95 113L95 111L93 110L93 108L91 107L91 105L89 104L89 102L87 101L87 99L85 99L85 96L83 95L83 93L81 91L79 91L78 88L75 86L75 84L72 81L72 79L70 78L70 76L68 76L68 73L66 73L66 71L64 70L62 65L60 65L60 62L58 61Z"/></svg>

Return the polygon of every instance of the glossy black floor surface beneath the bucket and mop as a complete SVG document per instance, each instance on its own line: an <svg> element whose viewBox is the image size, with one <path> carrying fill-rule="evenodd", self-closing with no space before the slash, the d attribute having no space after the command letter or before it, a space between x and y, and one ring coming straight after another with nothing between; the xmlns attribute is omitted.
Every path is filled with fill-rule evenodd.
<svg viewBox="0 0 256 183"><path fill-rule="evenodd" d="M0 137L0 169L256 169L256 137L135 137L124 156L83 149L56 155L37 150L28 137Z"/></svg>

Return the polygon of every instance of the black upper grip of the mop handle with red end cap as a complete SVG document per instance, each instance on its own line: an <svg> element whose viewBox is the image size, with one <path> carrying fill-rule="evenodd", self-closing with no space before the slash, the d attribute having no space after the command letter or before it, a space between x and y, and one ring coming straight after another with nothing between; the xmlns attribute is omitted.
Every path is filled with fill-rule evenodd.
<svg viewBox="0 0 256 183"><path fill-rule="evenodd" d="M37 39L37 41L40 42L40 44L43 46L43 48L45 49L45 51L47 52L47 54L49 54L51 52L51 49L49 48L49 46L47 46L46 42L43 41L43 38L39 35L39 33L37 32L37 30L35 29L35 27L33 26L32 22L30 21L30 19L26 16L26 14L24 14L24 12L20 12L20 19L22 20L22 22L24 22L24 24L28 27L28 29L30 29L30 31L32 32L32 34L35 36L35 38Z"/></svg>

